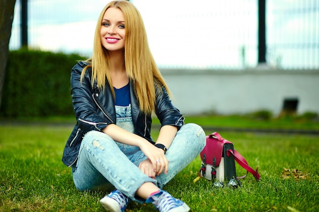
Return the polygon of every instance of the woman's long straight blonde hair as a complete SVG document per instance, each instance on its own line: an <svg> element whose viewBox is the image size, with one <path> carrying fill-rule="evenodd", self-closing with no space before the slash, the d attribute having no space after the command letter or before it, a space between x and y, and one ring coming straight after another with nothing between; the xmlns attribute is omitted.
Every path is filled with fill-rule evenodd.
<svg viewBox="0 0 319 212"><path fill-rule="evenodd" d="M140 109L147 114L151 114L155 110L155 86L164 86L169 95L170 90L162 74L159 72L149 49L141 14L130 2L113 1L102 10L95 29L93 54L92 57L87 60L90 65L85 67L81 79L83 79L85 75L85 70L92 67L92 86L96 80L98 87L104 89L105 80L107 79L113 97L115 97L109 72L108 50L102 47L100 40L103 15L107 9L112 7L119 8L124 14L125 47L123 63L125 65L126 74L132 83L134 83L134 92L137 96Z"/></svg>

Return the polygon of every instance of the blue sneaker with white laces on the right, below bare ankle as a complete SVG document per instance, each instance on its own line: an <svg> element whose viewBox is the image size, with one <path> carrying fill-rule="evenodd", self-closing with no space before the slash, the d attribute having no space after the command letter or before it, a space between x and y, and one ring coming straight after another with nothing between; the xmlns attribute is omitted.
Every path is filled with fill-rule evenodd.
<svg viewBox="0 0 319 212"><path fill-rule="evenodd" d="M183 201L175 199L166 191L148 197L146 203L151 202L160 212L188 212L191 208Z"/></svg>

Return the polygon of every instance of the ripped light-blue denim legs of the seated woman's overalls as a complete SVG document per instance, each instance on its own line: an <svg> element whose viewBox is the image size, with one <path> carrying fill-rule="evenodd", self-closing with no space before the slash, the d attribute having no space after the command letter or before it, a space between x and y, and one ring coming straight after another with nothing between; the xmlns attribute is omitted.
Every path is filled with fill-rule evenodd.
<svg viewBox="0 0 319 212"><path fill-rule="evenodd" d="M118 189L141 203L135 193L142 184L152 182L163 188L199 155L205 144L205 133L200 126L182 126L165 155L169 161L168 173L163 172L153 179L138 168L147 159L139 147L118 143L102 132L90 131L84 136L78 160L72 166L73 181L78 190L111 192Z"/></svg>

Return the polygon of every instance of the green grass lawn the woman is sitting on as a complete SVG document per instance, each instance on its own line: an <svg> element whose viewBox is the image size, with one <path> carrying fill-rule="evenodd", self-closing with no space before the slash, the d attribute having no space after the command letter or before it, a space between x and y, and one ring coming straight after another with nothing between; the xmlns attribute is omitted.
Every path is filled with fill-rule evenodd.
<svg viewBox="0 0 319 212"><path fill-rule="evenodd" d="M226 119L187 118L188 122L210 128L236 127L233 120L238 127L242 126L236 118ZM274 122L272 126L281 125L275 121L270 120ZM297 129L294 122L286 122L284 128ZM245 128L262 128L263 125L259 120L249 119L243 123ZM304 129L318 129L315 122L307 122L307 125L308 128ZM70 168L61 162L71 130L72 126L43 123L0 126L0 211L103 211L98 200L105 194L77 191ZM206 131L209 133L212 132ZM318 135L219 133L234 143L253 168L259 167L261 180L257 183L249 174L241 180L243 186L238 189L215 189L203 178L193 183L200 168L200 158L197 157L166 185L165 190L187 202L192 211L318 211ZM156 136L153 132L153 137ZM293 177L283 179L284 167L308 175L299 180ZM245 173L239 166L236 171L237 175ZM156 210L150 204L131 202L127 211Z"/></svg>

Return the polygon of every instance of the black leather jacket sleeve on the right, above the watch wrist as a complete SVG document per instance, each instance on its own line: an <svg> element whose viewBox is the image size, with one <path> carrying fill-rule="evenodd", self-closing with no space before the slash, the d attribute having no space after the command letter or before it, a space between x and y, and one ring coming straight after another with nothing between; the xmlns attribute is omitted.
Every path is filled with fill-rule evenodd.
<svg viewBox="0 0 319 212"><path fill-rule="evenodd" d="M156 87L155 113L161 122L161 127L172 125L179 130L184 125L184 116L172 104L164 86Z"/></svg>

